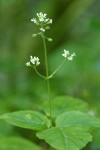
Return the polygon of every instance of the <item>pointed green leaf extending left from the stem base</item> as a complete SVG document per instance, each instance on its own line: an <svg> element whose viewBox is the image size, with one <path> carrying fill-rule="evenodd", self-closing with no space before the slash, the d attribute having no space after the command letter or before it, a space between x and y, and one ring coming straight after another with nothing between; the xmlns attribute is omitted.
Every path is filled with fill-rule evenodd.
<svg viewBox="0 0 100 150"><path fill-rule="evenodd" d="M0 118L12 125L36 131L50 127L50 121L43 114L36 111L17 111L4 114Z"/></svg>

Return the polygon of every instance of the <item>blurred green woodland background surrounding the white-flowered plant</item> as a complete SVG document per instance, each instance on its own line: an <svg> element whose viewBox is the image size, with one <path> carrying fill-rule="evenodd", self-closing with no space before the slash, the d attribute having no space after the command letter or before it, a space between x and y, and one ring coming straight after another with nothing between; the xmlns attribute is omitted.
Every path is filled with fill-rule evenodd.
<svg viewBox="0 0 100 150"><path fill-rule="evenodd" d="M45 74L42 40L32 38L37 28L30 20L37 12L53 19L46 32L53 38L47 42L50 72L63 60L63 49L77 55L51 79L51 95L81 98L100 117L99 0L0 0L0 113L35 109L46 100L46 83L25 66L29 56L36 55L41 61L38 69ZM12 135L33 140L31 131L1 122L0 136ZM100 131L94 135L87 150L100 150Z"/></svg>

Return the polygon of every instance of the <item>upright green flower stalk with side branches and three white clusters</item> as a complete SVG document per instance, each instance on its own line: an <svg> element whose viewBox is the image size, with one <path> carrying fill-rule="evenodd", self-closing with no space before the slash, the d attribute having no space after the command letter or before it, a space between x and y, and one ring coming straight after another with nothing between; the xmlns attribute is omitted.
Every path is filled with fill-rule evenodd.
<svg viewBox="0 0 100 150"><path fill-rule="evenodd" d="M41 36L43 40L43 46L44 46L44 56L45 56L45 67L46 67L46 75L42 75L37 70L37 66L40 65L40 60L36 56L30 56L30 61L26 63L26 66L30 66L34 68L37 75L39 75L41 78L45 79L47 82L47 90L48 90L48 103L50 108L50 121L51 121L51 127L52 127L52 103L50 98L50 79L56 74L56 72L62 67L62 65L65 63L66 60L73 60L73 57L76 56L75 53L70 54L68 50L64 49L64 53L62 56L64 57L64 60L62 63L57 67L57 69L49 75L49 69L48 69L48 57L47 57L47 47L46 47L46 40L49 42L52 42L52 38L48 38L44 35L45 31L50 29L49 24L52 24L52 19L46 18L47 14L43 14L42 12L37 13L37 18L32 18L31 21L35 23L37 26L39 26L39 32L32 35L32 37Z"/></svg>

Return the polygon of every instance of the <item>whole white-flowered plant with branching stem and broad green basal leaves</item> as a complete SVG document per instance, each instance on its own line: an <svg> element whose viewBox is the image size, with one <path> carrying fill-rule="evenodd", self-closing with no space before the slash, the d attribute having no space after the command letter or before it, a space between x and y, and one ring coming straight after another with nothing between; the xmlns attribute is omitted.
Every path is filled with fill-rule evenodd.
<svg viewBox="0 0 100 150"><path fill-rule="evenodd" d="M45 36L45 31L50 29L49 25L52 24L52 19L47 18L47 14L40 12L31 21L39 27L39 32L32 36L39 35L43 40L46 75L42 75L38 71L37 67L40 65L40 61L36 56L30 56L26 66L34 68L35 72L45 79L48 98L47 101L40 105L37 111L25 110L7 113L2 115L1 119L18 127L35 130L36 136L45 140L51 146L51 149L53 147L56 150L80 150L88 142L92 141L92 135L89 132L90 128L100 128L100 119L91 116L88 113L87 103L80 99L67 96L50 98L50 79L65 62L67 63L67 60L73 60L76 54L71 54L64 49L62 54L64 60L53 73L49 74L46 40L51 42L52 39ZM38 148L37 150L43 149Z"/></svg>

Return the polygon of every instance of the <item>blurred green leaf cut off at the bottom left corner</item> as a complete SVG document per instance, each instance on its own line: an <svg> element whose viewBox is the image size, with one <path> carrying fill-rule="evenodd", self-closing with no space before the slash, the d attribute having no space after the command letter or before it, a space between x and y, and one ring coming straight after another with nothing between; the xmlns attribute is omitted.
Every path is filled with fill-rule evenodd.
<svg viewBox="0 0 100 150"><path fill-rule="evenodd" d="M0 138L0 150L42 150L42 148L26 139L9 137Z"/></svg>

